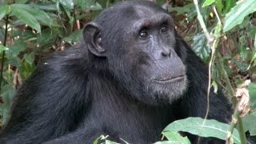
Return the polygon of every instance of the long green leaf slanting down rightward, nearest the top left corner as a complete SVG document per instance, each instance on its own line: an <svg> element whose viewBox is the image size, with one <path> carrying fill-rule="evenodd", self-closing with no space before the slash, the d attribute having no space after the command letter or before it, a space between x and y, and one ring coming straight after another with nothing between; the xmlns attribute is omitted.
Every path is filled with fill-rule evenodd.
<svg viewBox="0 0 256 144"><path fill-rule="evenodd" d="M10 5L11 13L14 14L17 18L22 20L22 22L26 23L28 26L32 27L34 30L37 30L39 33L41 32L41 27L39 22L34 18L32 14L27 12L23 6L24 4L13 4Z"/></svg>

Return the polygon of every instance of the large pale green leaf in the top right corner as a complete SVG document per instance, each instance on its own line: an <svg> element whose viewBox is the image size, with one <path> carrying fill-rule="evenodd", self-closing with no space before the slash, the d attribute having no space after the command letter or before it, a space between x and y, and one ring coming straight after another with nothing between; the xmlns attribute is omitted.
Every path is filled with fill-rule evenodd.
<svg viewBox="0 0 256 144"><path fill-rule="evenodd" d="M256 1L246 0L234 6L225 17L224 32L231 30L234 26L242 23L243 19L256 11Z"/></svg>

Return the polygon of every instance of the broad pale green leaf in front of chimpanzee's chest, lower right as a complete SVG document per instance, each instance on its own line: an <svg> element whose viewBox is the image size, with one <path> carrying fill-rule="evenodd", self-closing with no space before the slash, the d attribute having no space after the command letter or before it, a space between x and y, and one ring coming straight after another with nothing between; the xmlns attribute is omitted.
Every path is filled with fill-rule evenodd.
<svg viewBox="0 0 256 144"><path fill-rule="evenodd" d="M186 118L170 123L166 126L166 131L183 131L190 134L195 134L200 137L214 137L226 140L227 131L230 125L216 120L209 120L203 118ZM241 143L238 130L234 130L232 134L234 142Z"/></svg>

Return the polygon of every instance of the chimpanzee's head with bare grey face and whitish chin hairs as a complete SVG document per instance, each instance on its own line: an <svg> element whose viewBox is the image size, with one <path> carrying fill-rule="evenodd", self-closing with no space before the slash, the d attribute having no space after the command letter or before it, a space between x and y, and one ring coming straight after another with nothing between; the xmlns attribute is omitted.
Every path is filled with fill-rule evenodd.
<svg viewBox="0 0 256 144"><path fill-rule="evenodd" d="M106 58L114 78L138 100L156 104L179 98L186 90L186 66L177 53L183 46L176 42L170 15L150 6L116 13L122 22L114 22L117 14L110 13L109 20L86 26L95 31L91 52ZM113 29L105 30L109 26Z"/></svg>

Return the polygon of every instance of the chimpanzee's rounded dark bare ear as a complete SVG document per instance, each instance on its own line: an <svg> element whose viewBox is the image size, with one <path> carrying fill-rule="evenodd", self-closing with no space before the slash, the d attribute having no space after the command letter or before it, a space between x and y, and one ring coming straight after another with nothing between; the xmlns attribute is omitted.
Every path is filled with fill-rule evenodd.
<svg viewBox="0 0 256 144"><path fill-rule="evenodd" d="M99 57L106 56L106 50L102 47L101 26L95 22L89 22L83 29L83 38L90 52Z"/></svg>

